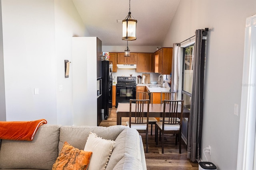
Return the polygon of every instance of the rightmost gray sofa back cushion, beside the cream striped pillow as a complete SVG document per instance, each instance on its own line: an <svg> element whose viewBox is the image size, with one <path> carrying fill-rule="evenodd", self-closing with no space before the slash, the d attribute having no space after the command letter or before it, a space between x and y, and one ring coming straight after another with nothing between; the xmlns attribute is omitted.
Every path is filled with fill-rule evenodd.
<svg viewBox="0 0 256 170"><path fill-rule="evenodd" d="M136 129L125 129L115 140L116 144L110 156L106 170L112 170L125 156L130 156L141 161L140 135Z"/></svg>

